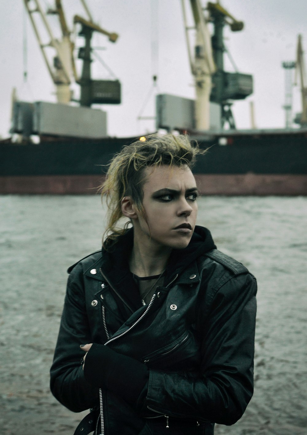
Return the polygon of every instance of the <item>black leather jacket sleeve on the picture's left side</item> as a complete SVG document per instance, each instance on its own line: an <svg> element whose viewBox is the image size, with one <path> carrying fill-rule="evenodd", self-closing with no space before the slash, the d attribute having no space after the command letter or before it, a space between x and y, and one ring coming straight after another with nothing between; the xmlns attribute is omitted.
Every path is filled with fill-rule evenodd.
<svg viewBox="0 0 307 435"><path fill-rule="evenodd" d="M60 331L50 369L50 389L71 411L80 412L97 405L99 390L84 378L80 344L91 343L83 290L83 270L78 264L67 283Z"/></svg>

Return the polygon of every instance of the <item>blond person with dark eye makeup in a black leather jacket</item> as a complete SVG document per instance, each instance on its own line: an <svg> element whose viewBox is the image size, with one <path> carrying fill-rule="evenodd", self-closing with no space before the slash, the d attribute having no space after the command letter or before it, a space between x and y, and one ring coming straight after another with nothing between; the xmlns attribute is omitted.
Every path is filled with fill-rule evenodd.
<svg viewBox="0 0 307 435"><path fill-rule="evenodd" d="M256 282L195 225L198 147L146 139L110 164L102 250L68 269L51 390L93 408L76 434L212 435L253 394Z"/></svg>

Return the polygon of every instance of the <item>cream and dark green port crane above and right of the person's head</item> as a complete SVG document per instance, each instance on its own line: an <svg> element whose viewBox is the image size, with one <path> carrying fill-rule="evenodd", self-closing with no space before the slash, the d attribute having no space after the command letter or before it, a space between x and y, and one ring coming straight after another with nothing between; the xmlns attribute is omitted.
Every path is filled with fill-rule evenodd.
<svg viewBox="0 0 307 435"><path fill-rule="evenodd" d="M194 26L187 24L185 0L181 0L184 26L187 39L188 57L196 88L195 118L197 130L208 130L210 124L210 101L221 108L221 127L228 122L235 128L231 111L231 101L244 99L253 91L253 78L250 74L224 71L223 29L227 24L234 32L244 27L219 2L208 2L203 8L200 0L190 0ZM213 23L214 34L210 35L208 23ZM196 30L194 54L192 54L190 32Z"/></svg>

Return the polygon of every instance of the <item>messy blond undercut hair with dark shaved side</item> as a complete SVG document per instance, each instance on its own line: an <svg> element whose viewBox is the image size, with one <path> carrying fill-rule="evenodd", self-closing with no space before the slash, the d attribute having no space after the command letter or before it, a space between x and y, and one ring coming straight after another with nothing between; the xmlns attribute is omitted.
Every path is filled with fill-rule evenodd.
<svg viewBox="0 0 307 435"><path fill-rule="evenodd" d="M192 144L188 136L166 134L158 136L151 134L126 145L117 153L109 166L107 176L100 186L102 200L106 197L108 215L107 229L108 240L116 239L123 234L127 224L122 228L118 225L123 218L121 201L125 196L131 196L137 209L145 217L143 209L143 185L146 182L144 169L160 165L193 167L197 154L204 154L196 141ZM146 218L146 217L145 217ZM105 246L105 244L104 244Z"/></svg>

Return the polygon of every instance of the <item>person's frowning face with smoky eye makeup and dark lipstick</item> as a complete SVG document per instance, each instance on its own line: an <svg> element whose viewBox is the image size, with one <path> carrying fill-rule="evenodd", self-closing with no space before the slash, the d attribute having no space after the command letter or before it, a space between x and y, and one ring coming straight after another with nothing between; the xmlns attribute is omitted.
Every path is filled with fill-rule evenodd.
<svg viewBox="0 0 307 435"><path fill-rule="evenodd" d="M192 237L198 196L195 178L187 166L161 165L145 168L143 207L146 219L138 213L141 238L169 248L186 248ZM145 241L145 240L144 240Z"/></svg>

